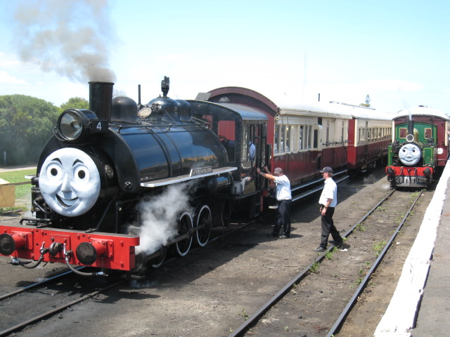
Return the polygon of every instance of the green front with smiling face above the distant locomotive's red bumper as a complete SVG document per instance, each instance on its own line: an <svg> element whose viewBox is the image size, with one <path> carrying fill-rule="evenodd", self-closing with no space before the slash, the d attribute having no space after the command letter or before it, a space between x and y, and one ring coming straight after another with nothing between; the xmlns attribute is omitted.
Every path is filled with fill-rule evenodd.
<svg viewBox="0 0 450 337"><path fill-rule="evenodd" d="M407 143L415 143L418 147L409 149L406 146ZM408 137L408 124L397 124L394 129L394 144L390 144L388 147L387 165L433 167L436 164L436 143L437 126L435 124L416 121L412 139L411 136ZM414 151L415 149L416 151ZM418 156L417 149L420 149L420 160L409 161L402 157L406 155L406 152L409 152L407 155L410 159Z"/></svg>

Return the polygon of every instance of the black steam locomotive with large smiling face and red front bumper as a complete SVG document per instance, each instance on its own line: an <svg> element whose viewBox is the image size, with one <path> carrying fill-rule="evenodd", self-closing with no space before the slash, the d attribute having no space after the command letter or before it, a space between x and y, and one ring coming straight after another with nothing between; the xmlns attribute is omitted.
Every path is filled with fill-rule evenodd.
<svg viewBox="0 0 450 337"><path fill-rule="evenodd" d="M261 156L242 158L243 144L225 144L213 130L251 119L262 131L264 114L203 102L193 103L193 116L192 104L168 91L165 77L162 97L142 105L112 99L113 83L89 82L89 110L65 110L41 153L32 178L35 217L1 225L0 253L24 267L158 266L167 247L184 256L194 238L204 246L211 227L229 218L231 199L260 198L261 182L241 177L263 164Z"/></svg>

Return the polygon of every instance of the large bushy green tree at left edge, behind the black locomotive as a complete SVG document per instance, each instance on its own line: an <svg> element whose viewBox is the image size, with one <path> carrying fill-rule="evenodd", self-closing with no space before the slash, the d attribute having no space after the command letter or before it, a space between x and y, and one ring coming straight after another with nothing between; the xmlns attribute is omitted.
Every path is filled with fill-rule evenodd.
<svg viewBox="0 0 450 337"><path fill-rule="evenodd" d="M27 95L0 96L0 154L6 164L36 164L61 110ZM3 162L2 162L3 164Z"/></svg>

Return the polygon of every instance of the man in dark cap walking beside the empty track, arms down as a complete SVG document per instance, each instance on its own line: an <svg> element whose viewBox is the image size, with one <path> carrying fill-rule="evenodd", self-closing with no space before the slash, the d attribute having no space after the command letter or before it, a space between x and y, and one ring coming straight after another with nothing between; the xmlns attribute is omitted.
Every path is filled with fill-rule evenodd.
<svg viewBox="0 0 450 337"><path fill-rule="evenodd" d="M333 180L333 169L330 166L326 166L322 171L323 179L325 179L325 185L323 186L322 194L319 199L321 206L321 223L322 223L322 235L321 245L314 249L314 251L325 251L328 244L328 237L333 237L333 243L336 246L342 246L342 237L335 227L333 221L333 214L335 213L335 206L338 204L338 186Z"/></svg>

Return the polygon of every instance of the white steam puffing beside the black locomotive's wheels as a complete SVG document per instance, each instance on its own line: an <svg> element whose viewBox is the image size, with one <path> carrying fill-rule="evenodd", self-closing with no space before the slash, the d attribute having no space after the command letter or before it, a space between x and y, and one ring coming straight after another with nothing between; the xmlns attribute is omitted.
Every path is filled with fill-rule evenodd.
<svg viewBox="0 0 450 337"><path fill-rule="evenodd" d="M183 211L191 211L188 191L192 184L170 185L162 194L138 204L141 216L141 244L136 253L150 255L177 234Z"/></svg>

